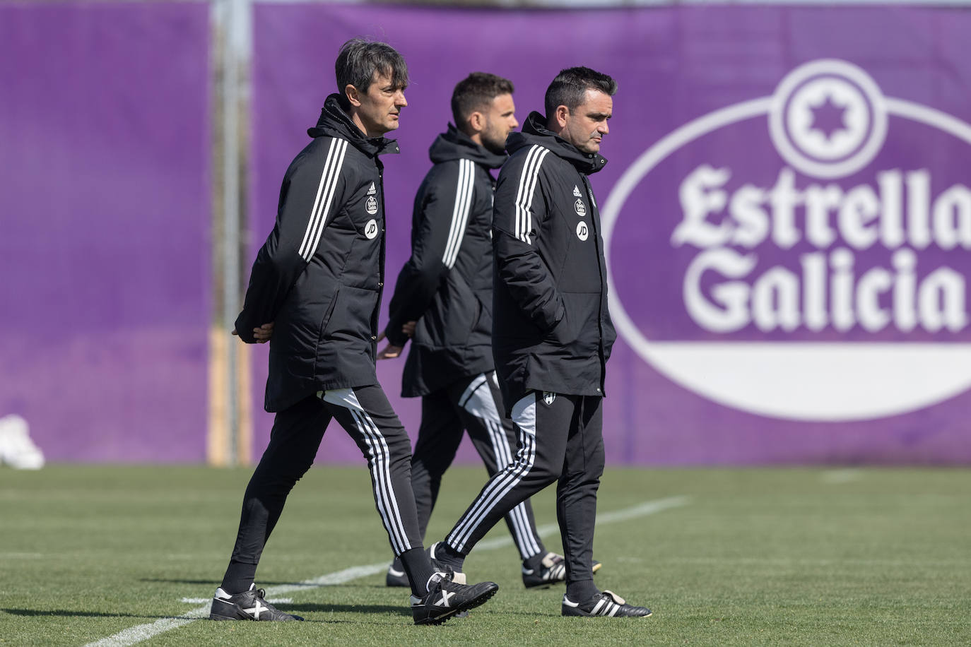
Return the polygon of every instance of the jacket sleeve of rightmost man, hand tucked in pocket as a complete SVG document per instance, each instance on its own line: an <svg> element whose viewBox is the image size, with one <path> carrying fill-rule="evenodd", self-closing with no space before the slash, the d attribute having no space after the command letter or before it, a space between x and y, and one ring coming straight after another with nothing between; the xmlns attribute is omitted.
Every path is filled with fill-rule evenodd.
<svg viewBox="0 0 971 647"><path fill-rule="evenodd" d="M497 279L522 313L544 333L562 320L565 307L537 243L551 215L543 196L543 160L533 152L506 163L499 173L492 208L492 250ZM535 153L535 154L534 154Z"/></svg>

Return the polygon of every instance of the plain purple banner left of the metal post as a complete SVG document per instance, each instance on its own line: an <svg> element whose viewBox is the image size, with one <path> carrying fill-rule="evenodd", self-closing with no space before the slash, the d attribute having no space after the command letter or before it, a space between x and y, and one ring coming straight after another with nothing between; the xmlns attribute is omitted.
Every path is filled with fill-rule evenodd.
<svg viewBox="0 0 971 647"><path fill-rule="evenodd" d="M205 461L209 14L0 5L0 417L50 461Z"/></svg>

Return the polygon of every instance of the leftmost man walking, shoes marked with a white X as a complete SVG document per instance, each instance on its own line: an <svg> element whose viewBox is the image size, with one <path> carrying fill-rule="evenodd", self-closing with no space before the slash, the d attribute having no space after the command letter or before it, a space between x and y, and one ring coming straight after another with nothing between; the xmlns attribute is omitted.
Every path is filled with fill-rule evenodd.
<svg viewBox="0 0 971 647"><path fill-rule="evenodd" d="M440 624L498 587L465 586L433 565L421 545L411 488L411 441L375 372L385 274L384 165L397 152L383 136L408 105L408 68L385 43L352 39L337 57L339 94L327 97L313 141L290 163L277 222L252 266L234 334L271 340L270 443L253 471L239 533L213 620L300 620L253 584L286 496L310 469L332 419L367 459L378 512L408 573L417 625ZM464 581L464 579L463 579Z"/></svg>

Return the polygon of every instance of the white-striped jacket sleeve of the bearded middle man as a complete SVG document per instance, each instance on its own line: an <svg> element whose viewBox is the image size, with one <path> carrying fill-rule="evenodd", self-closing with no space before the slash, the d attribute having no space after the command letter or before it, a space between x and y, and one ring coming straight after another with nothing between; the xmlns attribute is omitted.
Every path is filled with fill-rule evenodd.
<svg viewBox="0 0 971 647"><path fill-rule="evenodd" d="M394 284L387 340L403 346L401 327L418 321L428 309L442 278L452 270L473 204L475 165L467 159L437 165L422 182L415 201L412 255Z"/></svg>

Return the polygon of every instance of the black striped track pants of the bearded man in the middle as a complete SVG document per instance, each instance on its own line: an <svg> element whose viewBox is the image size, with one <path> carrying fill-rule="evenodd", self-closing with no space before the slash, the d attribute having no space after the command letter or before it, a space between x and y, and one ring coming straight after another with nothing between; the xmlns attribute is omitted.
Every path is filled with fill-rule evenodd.
<svg viewBox="0 0 971 647"><path fill-rule="evenodd" d="M421 398L421 427L412 457L412 488L422 537L438 500L442 475L452 465L463 430L468 431L489 476L515 459L517 432L509 418L499 415L497 403L501 402L494 372L459 380ZM528 500L506 512L506 525L521 559L546 554Z"/></svg>

